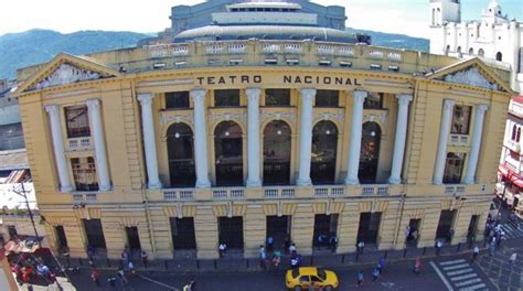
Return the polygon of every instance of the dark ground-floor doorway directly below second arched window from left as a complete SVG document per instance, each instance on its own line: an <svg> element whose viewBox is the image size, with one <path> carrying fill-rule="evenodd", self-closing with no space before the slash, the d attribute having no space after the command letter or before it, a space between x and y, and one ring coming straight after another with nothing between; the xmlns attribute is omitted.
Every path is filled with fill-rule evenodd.
<svg viewBox="0 0 523 291"><path fill-rule="evenodd" d="M227 249L244 248L244 218L242 216L218 217L218 244L225 242Z"/></svg>

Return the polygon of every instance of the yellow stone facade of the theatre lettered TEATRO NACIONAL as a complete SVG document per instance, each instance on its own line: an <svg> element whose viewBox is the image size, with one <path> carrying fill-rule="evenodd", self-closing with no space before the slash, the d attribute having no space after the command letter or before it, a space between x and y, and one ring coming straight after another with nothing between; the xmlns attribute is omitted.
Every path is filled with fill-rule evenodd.
<svg viewBox="0 0 523 291"><path fill-rule="evenodd" d="M428 55L418 52L395 51L383 47L348 44L321 44L299 42L300 53L275 53L279 65L268 65L262 41L244 41L238 53L227 42L191 43L140 47L105 52L76 57L58 55L47 64L19 72L22 80L17 91L23 122L25 144L31 172L36 188L41 214L45 217L49 241L56 249L54 226L62 225L67 236L72 256L85 257L87 238L82 219L100 219L111 258L118 258L128 244L125 227L137 227L141 248L150 258L171 258L175 252L170 217L193 217L199 258L218 256L217 217L243 217L244 255L254 257L266 239L266 216L291 217L290 238L301 254L312 252L316 214L339 214L337 235L338 252L355 249L361 213L382 213L376 245L378 249L405 247L405 228L410 219L421 219L418 246L433 246L441 211L455 209L452 244L467 240L472 215L480 216L476 229L482 237L484 220L490 207L495 183L498 159L502 146L504 122L510 100L509 73L488 67L473 58L460 62L456 58ZM276 45L276 44L275 44ZM286 43L277 43L285 47ZM332 54L320 53L330 50ZM341 47L343 46L343 47ZM225 47L224 51L220 51ZM227 52L230 47L231 52ZM321 48L321 50L320 50ZM350 48L353 54L340 55ZM216 53L216 50L218 53ZM323 52L321 51L321 52ZM330 51L329 51L330 52ZM289 57L299 58L300 65L286 65ZM243 62L233 65L232 60ZM332 65L319 65L330 60ZM351 67L340 67L341 62ZM53 72L62 64L81 71L95 72L98 77L78 82L53 84ZM163 65L161 65L163 64ZM178 64L178 65L177 65ZM183 64L183 65L181 65ZM381 65L376 69L375 65ZM371 69L371 66L374 66ZM157 67L157 69L154 69ZM395 72L398 67L399 72ZM479 69L497 89L474 84L445 82L445 76ZM434 71L434 73L431 73ZM429 72L429 73L427 73ZM231 76L235 76L233 78ZM242 77L244 76L244 78ZM221 78L223 77L223 82ZM330 78L331 82L325 82ZM335 79L339 78L337 84ZM63 79L71 79L70 76ZM47 83L42 83L42 82ZM221 84L222 83L222 84ZM325 84L327 83L327 84ZM329 84L330 83L330 84ZM350 84L348 84L350 83ZM51 85L50 85L51 84ZM341 85L342 84L342 85ZM239 89L239 107L214 107L215 89ZM216 187L214 129L224 120L233 120L242 128L243 173L247 179L248 117L247 88L260 88L259 131L273 120L284 120L291 128L291 161L289 185ZM290 88L290 106L267 107L263 89ZM295 184L300 166L300 89L339 90L339 106L313 108L312 126L331 120L338 127L335 183L332 185ZM169 181L167 130L177 122L194 129L194 103L183 110L167 110L164 94L204 89L207 169L212 183L207 188L172 188ZM380 160L375 184L345 185L351 144L353 95L355 90L384 93L383 109L365 109L363 121L374 121L382 130ZM143 146L142 114L137 97L152 95L152 115L157 163L161 188L147 187L147 166ZM391 174L396 134L398 103L396 96L412 95L406 127L406 148L401 173L401 184L387 183ZM51 120L44 107L60 108L62 132L66 132L64 108L85 105L99 99L107 165L111 187L107 192L60 191L60 177ZM487 105L481 149L471 184L433 183L439 131L445 99L457 105L476 108ZM474 110L472 110L474 112ZM472 112L471 126L474 122ZM92 120L89 119L92 122ZM90 123L93 129L93 123ZM472 130L469 136L472 137ZM449 139L448 152L471 151L472 138L456 143ZM74 184L71 159L95 157L92 137L86 147L72 148L63 133L68 176ZM260 138L263 149L263 138ZM259 170L263 173L263 153L259 151ZM467 168L468 159L465 160ZM271 195L268 195L269 192ZM220 192L220 193L218 193ZM166 198L169 195L170 198ZM74 207L76 205L76 207Z"/></svg>

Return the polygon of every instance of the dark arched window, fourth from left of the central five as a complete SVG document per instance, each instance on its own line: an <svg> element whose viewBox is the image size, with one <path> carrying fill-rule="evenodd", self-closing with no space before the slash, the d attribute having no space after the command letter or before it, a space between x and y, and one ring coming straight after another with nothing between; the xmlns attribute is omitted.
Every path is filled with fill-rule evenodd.
<svg viewBox="0 0 523 291"><path fill-rule="evenodd" d="M335 180L338 128L332 121L320 121L312 129L310 177L313 184L332 184Z"/></svg>

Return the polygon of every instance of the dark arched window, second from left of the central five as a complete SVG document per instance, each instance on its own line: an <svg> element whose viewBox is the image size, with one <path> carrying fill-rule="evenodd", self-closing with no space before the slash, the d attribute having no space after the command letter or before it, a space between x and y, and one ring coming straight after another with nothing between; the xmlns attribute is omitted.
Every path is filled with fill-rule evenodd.
<svg viewBox="0 0 523 291"><path fill-rule="evenodd" d="M234 121L223 121L214 129L214 163L217 186L244 183L242 128Z"/></svg>

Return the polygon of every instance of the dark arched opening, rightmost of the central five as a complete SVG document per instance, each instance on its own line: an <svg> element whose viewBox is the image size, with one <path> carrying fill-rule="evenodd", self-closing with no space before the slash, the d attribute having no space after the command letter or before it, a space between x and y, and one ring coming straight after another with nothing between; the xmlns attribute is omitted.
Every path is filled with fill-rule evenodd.
<svg viewBox="0 0 523 291"><path fill-rule="evenodd" d="M380 142L382 129L376 122L363 123L362 148L360 153L360 183L372 184L376 182L377 161L380 159Z"/></svg>

